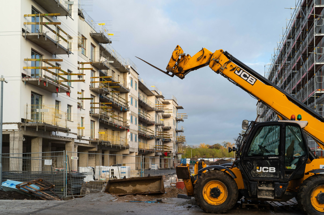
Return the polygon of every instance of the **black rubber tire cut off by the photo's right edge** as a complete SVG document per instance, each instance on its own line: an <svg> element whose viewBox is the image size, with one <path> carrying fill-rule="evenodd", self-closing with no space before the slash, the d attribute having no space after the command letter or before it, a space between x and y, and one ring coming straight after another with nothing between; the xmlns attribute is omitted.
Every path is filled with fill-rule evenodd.
<svg viewBox="0 0 324 215"><path fill-rule="evenodd" d="M324 175L317 174L307 178L299 187L297 195L298 206L307 215L323 215L323 212L315 209L311 202L312 192L321 185L324 186Z"/></svg>

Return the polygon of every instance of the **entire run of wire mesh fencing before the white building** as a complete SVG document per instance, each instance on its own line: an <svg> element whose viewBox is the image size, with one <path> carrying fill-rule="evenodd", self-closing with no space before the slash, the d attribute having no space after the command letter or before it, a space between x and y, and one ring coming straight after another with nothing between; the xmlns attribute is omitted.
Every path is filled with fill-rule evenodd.
<svg viewBox="0 0 324 215"><path fill-rule="evenodd" d="M109 151L108 151L109 152ZM138 155L91 152L3 153L2 182L43 178L61 197L79 196L90 181L163 175L165 186L176 179L181 160ZM49 192L50 194L50 192Z"/></svg>

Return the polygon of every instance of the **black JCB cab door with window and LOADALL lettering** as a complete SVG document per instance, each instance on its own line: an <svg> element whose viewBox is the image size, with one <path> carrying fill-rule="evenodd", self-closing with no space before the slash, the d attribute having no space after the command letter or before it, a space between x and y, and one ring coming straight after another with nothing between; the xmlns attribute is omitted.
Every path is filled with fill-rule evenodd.
<svg viewBox="0 0 324 215"><path fill-rule="evenodd" d="M279 181L284 164L283 123L260 123L247 141L242 168L250 181Z"/></svg>

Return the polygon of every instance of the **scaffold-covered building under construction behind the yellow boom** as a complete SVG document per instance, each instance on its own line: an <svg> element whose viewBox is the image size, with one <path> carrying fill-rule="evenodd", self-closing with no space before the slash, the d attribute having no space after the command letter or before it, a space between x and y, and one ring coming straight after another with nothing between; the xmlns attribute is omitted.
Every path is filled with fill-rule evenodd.
<svg viewBox="0 0 324 215"><path fill-rule="evenodd" d="M300 0L291 8L264 76L314 111L324 111L323 1ZM280 33L281 34L281 33ZM275 112L263 103L257 104L258 121L278 120ZM296 116L297 117L297 116ZM311 150L322 156L315 141L308 137Z"/></svg>

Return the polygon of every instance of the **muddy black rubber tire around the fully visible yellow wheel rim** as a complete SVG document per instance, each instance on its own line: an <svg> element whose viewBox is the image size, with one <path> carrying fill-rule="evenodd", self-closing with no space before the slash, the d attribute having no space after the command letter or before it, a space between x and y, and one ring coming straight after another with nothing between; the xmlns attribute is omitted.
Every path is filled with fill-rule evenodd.
<svg viewBox="0 0 324 215"><path fill-rule="evenodd" d="M220 205L211 205L204 199L204 187L211 181L219 181L227 188L227 198ZM198 206L207 213L225 213L233 208L238 198L238 189L235 180L229 174L220 170L207 171L202 174L198 178L193 192Z"/></svg>

